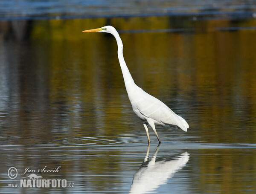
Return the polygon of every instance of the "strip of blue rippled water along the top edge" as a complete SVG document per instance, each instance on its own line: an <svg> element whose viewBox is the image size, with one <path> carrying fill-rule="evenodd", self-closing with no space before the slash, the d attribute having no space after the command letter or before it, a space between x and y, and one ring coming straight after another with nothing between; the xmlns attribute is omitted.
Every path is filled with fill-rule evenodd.
<svg viewBox="0 0 256 194"><path fill-rule="evenodd" d="M203 16L256 17L253 0L1 0L0 19L31 20L81 17Z"/></svg>

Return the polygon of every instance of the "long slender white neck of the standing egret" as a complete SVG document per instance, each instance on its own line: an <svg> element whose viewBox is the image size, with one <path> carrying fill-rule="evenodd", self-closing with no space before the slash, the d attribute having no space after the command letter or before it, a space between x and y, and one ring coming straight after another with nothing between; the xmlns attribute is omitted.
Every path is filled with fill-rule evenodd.
<svg viewBox="0 0 256 194"><path fill-rule="evenodd" d="M121 40L121 38L120 38L120 36L119 36L119 34L116 30L114 32L112 32L112 35L116 38L117 47L118 47L118 51L117 51L118 59L119 59L120 67L121 67L121 70L122 70L122 75L123 75L123 78L124 78L124 81L125 81L125 87L127 89L127 85L131 82L134 83L134 80L131 77L131 73L129 72L129 69L126 66L126 63L125 63L125 59L124 59L124 56L123 56L122 40Z"/></svg>

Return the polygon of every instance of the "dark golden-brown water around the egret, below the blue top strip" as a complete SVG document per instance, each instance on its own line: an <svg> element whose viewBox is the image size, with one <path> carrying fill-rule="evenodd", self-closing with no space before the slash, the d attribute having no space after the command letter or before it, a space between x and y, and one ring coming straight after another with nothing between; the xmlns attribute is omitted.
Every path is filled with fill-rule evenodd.
<svg viewBox="0 0 256 194"><path fill-rule="evenodd" d="M157 148L150 133L148 149L116 42L81 33L106 24L122 30L134 81L183 116L188 132L158 127L163 143ZM255 20L134 17L0 26L1 193L128 193L140 170L148 171L145 159L173 164L183 156L186 164L172 165L176 170L152 192L255 193ZM9 179L11 166L19 172L61 166L42 177L75 187L8 188L22 178Z"/></svg>

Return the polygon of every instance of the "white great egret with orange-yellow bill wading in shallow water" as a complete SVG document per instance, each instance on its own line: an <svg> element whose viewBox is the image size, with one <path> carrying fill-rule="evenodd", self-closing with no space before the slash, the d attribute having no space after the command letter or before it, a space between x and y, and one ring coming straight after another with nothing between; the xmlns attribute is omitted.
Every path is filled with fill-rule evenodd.
<svg viewBox="0 0 256 194"><path fill-rule="evenodd" d="M159 143L161 143L155 125L165 126L177 126L183 131L187 131L189 125L181 116L176 115L169 107L163 102L149 95L135 83L128 67L125 64L123 57L123 44L122 40L113 26L104 26L102 28L84 30L83 32L107 32L112 34L116 38L118 47L118 59L122 70L122 75L125 81L125 88L128 93L128 98L131 102L134 113L143 121L143 126L148 136L148 143L150 143L148 135L148 125L152 127L154 133L157 136Z"/></svg>

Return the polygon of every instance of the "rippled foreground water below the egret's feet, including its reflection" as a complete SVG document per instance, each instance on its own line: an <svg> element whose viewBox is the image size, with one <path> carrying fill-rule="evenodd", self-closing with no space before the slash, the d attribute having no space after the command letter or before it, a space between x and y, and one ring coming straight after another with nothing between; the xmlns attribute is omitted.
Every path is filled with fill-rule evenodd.
<svg viewBox="0 0 256 194"><path fill-rule="evenodd" d="M19 172L24 172L25 167L61 165L58 173L40 175L47 179L66 179L68 184L74 182L74 188L62 189L73 193L255 191L255 173L251 169L254 164L238 166L256 155L256 144L201 144L174 139L147 147L145 143L127 142L133 138L116 137L117 143L102 141L108 137L94 137L84 138L86 143L1 146L1 156L5 158L2 168L14 165ZM1 177L1 193L33 193L45 189L10 189L6 185L14 181L8 179L6 172ZM21 177L24 176L17 178ZM227 186L222 188L222 184ZM55 193L60 189L49 191Z"/></svg>

